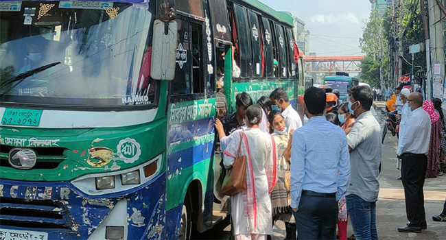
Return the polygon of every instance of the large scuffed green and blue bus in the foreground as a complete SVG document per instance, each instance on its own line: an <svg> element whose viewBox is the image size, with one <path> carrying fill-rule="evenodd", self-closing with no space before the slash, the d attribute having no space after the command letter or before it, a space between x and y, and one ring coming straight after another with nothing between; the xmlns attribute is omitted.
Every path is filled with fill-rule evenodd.
<svg viewBox="0 0 446 240"><path fill-rule="evenodd" d="M277 87L297 107L292 22L257 0L0 0L1 235L190 239L228 217L216 51L241 69L225 58L230 112Z"/></svg>

